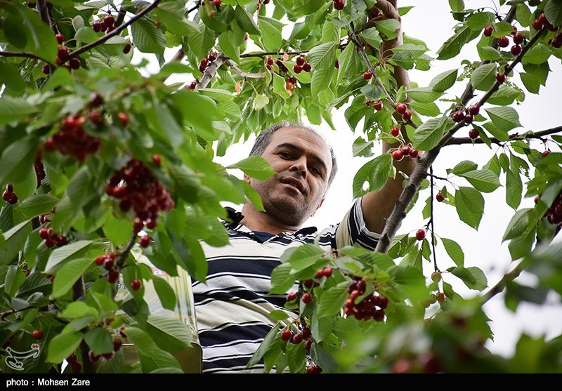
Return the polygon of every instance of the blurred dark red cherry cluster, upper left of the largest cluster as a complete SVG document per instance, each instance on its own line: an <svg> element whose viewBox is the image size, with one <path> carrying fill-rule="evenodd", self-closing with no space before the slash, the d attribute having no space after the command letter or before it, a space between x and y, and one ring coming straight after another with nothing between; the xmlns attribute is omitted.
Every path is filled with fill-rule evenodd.
<svg viewBox="0 0 562 391"><path fill-rule="evenodd" d="M58 150L61 154L74 156L80 162L85 161L89 154L98 152L100 139L84 131L85 122L86 117L81 114L65 117L60 130L45 141L45 150Z"/></svg>

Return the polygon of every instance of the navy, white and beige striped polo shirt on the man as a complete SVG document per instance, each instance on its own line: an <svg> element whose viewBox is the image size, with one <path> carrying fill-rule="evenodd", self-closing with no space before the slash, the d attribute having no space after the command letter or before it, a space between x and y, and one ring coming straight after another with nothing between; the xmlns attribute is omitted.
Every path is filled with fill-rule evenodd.
<svg viewBox="0 0 562 391"><path fill-rule="evenodd" d="M355 200L341 223L321 232L307 227L263 240L237 222L224 224L230 243L212 247L202 242L209 272L206 282L193 283L204 373L263 373L263 362L251 369L245 366L278 322L268 314L284 310L291 319L298 317L283 307L286 295L269 293L271 272L280 265L280 256L287 248L313 243L320 236L318 245L326 251L351 245L374 250L380 236L365 227L360 199ZM295 284L289 291L297 289Z"/></svg>

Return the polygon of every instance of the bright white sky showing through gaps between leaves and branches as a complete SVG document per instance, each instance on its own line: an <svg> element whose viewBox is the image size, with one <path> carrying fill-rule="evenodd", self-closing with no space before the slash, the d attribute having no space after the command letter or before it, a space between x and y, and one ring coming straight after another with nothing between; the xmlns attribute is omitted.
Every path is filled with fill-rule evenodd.
<svg viewBox="0 0 562 391"><path fill-rule="evenodd" d="M498 1L464 0L464 3L466 8L487 7L484 11L493 12ZM436 58L436 51L452 35L453 27L456 23L450 14L448 1L399 0L398 4L399 6L414 6L409 13L403 16L403 31L410 37L424 41L429 47L429 52L426 54ZM506 12L507 8L504 6L500 11ZM518 27L521 29L520 26ZM463 59L479 60L475 46L476 40L467 44L456 58L445 61L434 60L431 62L431 70L429 71L421 72L412 69L410 71L410 79L417 82L419 86L427 86L429 81L437 74L461 67ZM173 54L171 53L171 55ZM559 126L562 123L558 117L560 105L559 91L562 91L562 66L560 60L556 58L551 59L550 65L552 72L549 75L547 87L540 88L538 95L526 93L523 103L516 107L523 126L521 129L516 129L516 131L541 131ZM514 81L516 82L519 80L517 73L521 72L521 69L521 65L518 65L515 69ZM447 91L447 95L450 94L452 97L452 95L459 94L463 90L464 84L459 83L459 86L455 86ZM474 98L474 101L478 98ZM448 107L449 105L448 102L445 102L444 105L441 105L439 102L437 103L440 107ZM353 175L368 160L367 158L353 157L351 145L361 133L360 131L353 133L348 128L344 119L344 110L334 112L333 119L336 131L332 131L326 124L322 124L320 130L327 138L328 143L334 148L336 159L339 161L339 172L334 179L334 183L332 183L324 204L318 210L318 213L306 223L307 226L314 225L320 230L341 220L346 213L346 208L342 208L342 206L351 206L353 201L351 191ZM360 129L360 126L358 129ZM468 127L461 129L457 132L457 136L466 137L468 130ZM253 138L248 140L247 143L234 145L228 150L226 156L218 157L216 161L224 166L228 166L244 159L244 157L247 157L252 141ZM554 145L549 147L553 150L558 148L554 147ZM542 148L542 145L537 146L537 149L541 150ZM376 154L379 151L380 148L374 149ZM445 147L433 164L433 173L440 177L446 177L447 173L445 170L454 167L462 160L475 161L478 164L478 168L481 168L490 159L492 154L496 152L497 150L493 145L492 149L486 145ZM235 172L233 173L238 175ZM242 178L241 173L240 178ZM503 178L501 181L504 184ZM469 185L462 178L452 178L452 182L457 186ZM447 185L447 189L452 187L450 183L436 181L437 187L440 188L443 185ZM457 241L464 250L465 267L480 267L486 277L488 277L488 286L490 287L494 286L506 272L514 267L514 263L509 256L507 243L502 244L505 227L514 214L514 210L507 206L505 202L505 192L503 189L504 187L501 187L492 194L485 194L485 212L478 231L473 230L473 228L459 220L454 207L444 203L434 203L435 233ZM523 192L525 192L525 188ZM424 206L425 199L428 196L429 190L420 196L420 201L408 213L407 218L403 221L403 225L398 230L398 234L407 232L413 234L415 230L424 227L427 220L422 219L421 208ZM532 207L532 199L523 199L519 208L524 207ZM441 269L446 269L453 265L442 247L436 249L436 256ZM431 264L424 263L424 270L427 271L431 267ZM455 290L462 296L469 297L476 293L466 289L466 286L459 283L456 277L445 276L444 279L447 283L453 284ZM523 274L517 281L522 284L531 284L534 279L532 275ZM545 336L547 339L562 334L562 305L559 302L560 298L553 296L549 298L546 305L537 306L523 303L518 306L517 311L514 313L505 307L502 294L495 296L484 307L488 317L492 319L490 326L492 333L494 333L493 342L489 341L486 347L496 354L509 357L514 353L516 341L521 333L526 333L534 338Z"/></svg>

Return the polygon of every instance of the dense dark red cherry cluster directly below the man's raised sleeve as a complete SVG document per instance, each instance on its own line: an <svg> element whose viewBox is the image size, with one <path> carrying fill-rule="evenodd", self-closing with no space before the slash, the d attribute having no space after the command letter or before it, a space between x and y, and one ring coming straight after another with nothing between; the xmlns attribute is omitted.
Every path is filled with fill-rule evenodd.
<svg viewBox="0 0 562 391"><path fill-rule="evenodd" d="M374 319L377 322L384 321L384 310L388 306L388 298L376 291L355 303L359 296L365 293L367 281L359 276L353 276L353 281L348 286L349 298L346 299L344 314L347 317L355 317L357 320Z"/></svg>

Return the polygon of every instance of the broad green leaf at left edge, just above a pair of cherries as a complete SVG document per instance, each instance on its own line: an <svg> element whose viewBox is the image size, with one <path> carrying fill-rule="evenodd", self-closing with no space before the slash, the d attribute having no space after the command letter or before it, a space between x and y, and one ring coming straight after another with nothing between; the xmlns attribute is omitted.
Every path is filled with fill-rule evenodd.
<svg viewBox="0 0 562 391"><path fill-rule="evenodd" d="M8 97L3 96L0 99L0 105L6 98ZM36 154L37 139L33 137L20 138L6 147L0 157L0 167L2 168L0 183L14 183L25 178L27 171L33 165Z"/></svg>

